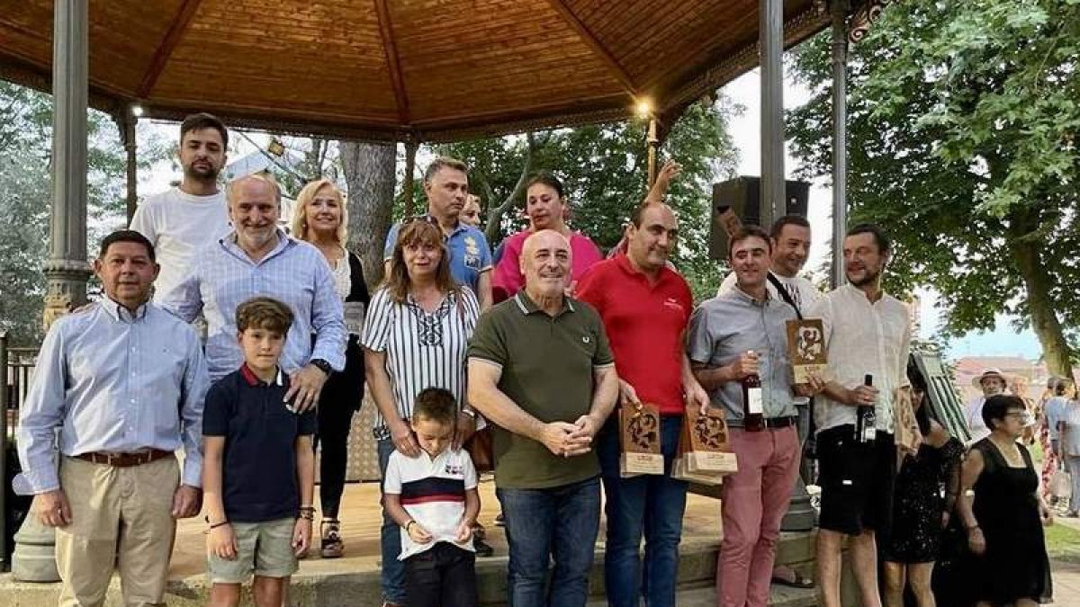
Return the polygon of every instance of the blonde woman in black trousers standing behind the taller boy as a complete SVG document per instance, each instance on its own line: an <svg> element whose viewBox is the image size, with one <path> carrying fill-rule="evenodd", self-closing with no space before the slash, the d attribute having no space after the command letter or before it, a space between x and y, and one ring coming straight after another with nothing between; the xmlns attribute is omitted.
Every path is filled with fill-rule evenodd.
<svg viewBox="0 0 1080 607"><path fill-rule="evenodd" d="M370 301L360 256L346 248L349 211L341 190L329 179L318 179L296 197L289 222L293 237L315 246L326 258L334 274L334 286L343 301L346 328L345 370L330 374L319 396L319 430L314 445L322 445L319 497L323 510L320 526L323 558L343 554L338 512L345 493L346 464L349 459L349 429L352 416L364 402L364 351L360 336L364 310Z"/></svg>

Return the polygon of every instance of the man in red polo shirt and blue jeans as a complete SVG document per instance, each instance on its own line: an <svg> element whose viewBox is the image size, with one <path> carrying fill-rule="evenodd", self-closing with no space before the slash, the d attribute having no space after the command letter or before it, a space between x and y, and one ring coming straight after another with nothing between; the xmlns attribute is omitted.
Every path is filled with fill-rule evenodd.
<svg viewBox="0 0 1080 607"><path fill-rule="evenodd" d="M708 406L684 346L693 308L690 287L667 267L677 235L671 207L646 203L626 228L626 253L596 264L578 282L578 299L596 308L604 321L619 373L620 405L652 403L661 414L663 475L620 476L619 416L608 419L596 440L607 496L604 575L612 607L636 607L642 597L652 607L675 606L687 484L671 477L672 461L686 407Z"/></svg>

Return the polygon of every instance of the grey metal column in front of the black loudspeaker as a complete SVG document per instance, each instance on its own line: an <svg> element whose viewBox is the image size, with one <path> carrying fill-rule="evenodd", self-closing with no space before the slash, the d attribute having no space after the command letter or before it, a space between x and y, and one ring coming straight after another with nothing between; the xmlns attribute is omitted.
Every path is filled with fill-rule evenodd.
<svg viewBox="0 0 1080 607"><path fill-rule="evenodd" d="M784 191L784 2L759 0L761 62L761 226L787 212Z"/></svg>

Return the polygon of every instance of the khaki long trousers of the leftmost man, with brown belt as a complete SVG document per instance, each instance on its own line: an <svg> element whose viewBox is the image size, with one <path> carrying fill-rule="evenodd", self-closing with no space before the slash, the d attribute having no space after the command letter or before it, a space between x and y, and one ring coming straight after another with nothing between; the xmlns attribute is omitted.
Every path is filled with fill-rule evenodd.
<svg viewBox="0 0 1080 607"><path fill-rule="evenodd" d="M59 607L99 607L119 564L125 607L164 605L176 521L173 494L180 481L175 458L113 468L64 457L60 488L71 524L56 529Z"/></svg>

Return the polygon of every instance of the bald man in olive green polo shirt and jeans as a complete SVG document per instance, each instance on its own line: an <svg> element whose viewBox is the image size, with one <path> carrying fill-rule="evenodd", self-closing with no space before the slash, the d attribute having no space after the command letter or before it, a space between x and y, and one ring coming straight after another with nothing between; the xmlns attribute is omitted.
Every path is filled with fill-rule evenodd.
<svg viewBox="0 0 1080 607"><path fill-rule="evenodd" d="M530 235L525 287L481 316L469 346L469 402L495 424L514 607L583 607L589 596L600 515L592 441L619 378L599 314L564 295L570 261L558 232Z"/></svg>

